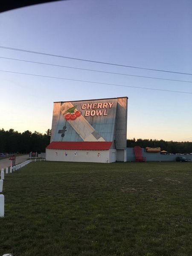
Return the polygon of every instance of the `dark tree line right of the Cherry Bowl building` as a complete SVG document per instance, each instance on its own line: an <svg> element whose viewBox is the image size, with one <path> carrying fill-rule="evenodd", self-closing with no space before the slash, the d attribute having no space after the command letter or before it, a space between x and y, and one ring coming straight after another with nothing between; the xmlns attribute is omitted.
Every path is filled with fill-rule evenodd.
<svg viewBox="0 0 192 256"><path fill-rule="evenodd" d="M133 148L134 146L140 146L141 148L161 148L169 153L192 153L192 142L177 142L177 141L165 141L165 140L146 140L138 139L127 140L127 147Z"/></svg>

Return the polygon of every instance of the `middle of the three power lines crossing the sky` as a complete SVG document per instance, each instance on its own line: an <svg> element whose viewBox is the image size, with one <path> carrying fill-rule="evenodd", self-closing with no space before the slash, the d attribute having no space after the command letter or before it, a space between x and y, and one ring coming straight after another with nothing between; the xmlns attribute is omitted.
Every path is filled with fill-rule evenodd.
<svg viewBox="0 0 192 256"><path fill-rule="evenodd" d="M45 62L27 61L27 60L21 60L21 59L16 59L16 58L6 58L6 57L0 57L0 58L9 59L9 60L15 60L15 61L25 61L25 62L36 63L36 64L55 66L55 67L67 67L67 68L72 68L72 69L76 69L76 70L87 70L87 71L93 71L93 72L108 73L108 74L114 74L114 75L135 76L135 77L150 78L150 79L160 79L160 80L167 80L167 81L177 81L177 82L192 83L192 81L186 81L186 80L165 79L165 78L158 78L158 77L151 77L151 76L136 76L136 75L130 75L130 74L125 74L125 73L114 73L114 72L107 72L107 71L102 71L102 70L91 70L91 69L80 68L80 67L70 67L70 66L62 66L62 65L56 65L56 64L49 64L49 63L45 63Z"/></svg>

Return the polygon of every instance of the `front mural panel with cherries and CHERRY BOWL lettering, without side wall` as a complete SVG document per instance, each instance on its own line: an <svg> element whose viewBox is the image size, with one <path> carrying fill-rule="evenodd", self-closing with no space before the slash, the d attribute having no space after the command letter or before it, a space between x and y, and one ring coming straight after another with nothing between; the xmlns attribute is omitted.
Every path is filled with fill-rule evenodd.
<svg viewBox="0 0 192 256"><path fill-rule="evenodd" d="M113 141L116 104L117 99L60 102L52 141Z"/></svg>

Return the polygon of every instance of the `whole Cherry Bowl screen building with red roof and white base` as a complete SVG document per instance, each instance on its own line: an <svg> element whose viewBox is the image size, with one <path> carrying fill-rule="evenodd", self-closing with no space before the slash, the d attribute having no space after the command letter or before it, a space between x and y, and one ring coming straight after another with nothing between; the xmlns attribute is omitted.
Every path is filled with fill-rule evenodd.
<svg viewBox="0 0 192 256"><path fill-rule="evenodd" d="M85 161L90 161L96 157L95 162L107 162L104 151L110 158L112 151L109 154L109 150L113 150L115 161L116 150L126 150L127 102L127 97L54 102L51 143L47 146L49 157L46 159L82 161L85 157ZM94 157L89 150L96 150L91 153Z"/></svg>

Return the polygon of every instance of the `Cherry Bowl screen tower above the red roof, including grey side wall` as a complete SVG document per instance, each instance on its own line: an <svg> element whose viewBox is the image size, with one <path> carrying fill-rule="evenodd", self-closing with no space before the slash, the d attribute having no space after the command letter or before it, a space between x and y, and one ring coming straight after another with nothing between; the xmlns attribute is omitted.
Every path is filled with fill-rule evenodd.
<svg viewBox="0 0 192 256"><path fill-rule="evenodd" d="M124 148L126 134L127 97L54 102L51 142L115 141Z"/></svg>

